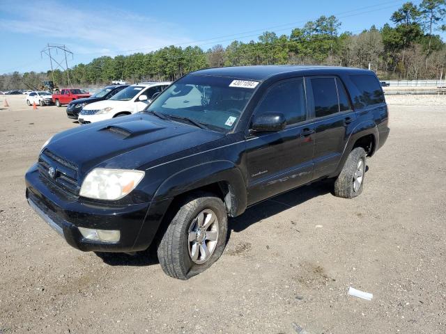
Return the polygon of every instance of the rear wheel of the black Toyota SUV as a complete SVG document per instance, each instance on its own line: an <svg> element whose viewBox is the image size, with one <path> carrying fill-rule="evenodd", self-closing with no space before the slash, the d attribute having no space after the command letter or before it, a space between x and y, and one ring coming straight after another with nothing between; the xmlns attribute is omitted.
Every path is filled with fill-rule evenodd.
<svg viewBox="0 0 446 334"><path fill-rule="evenodd" d="M355 198L362 193L366 168L364 148L355 148L348 154L344 168L334 181L334 196Z"/></svg>

